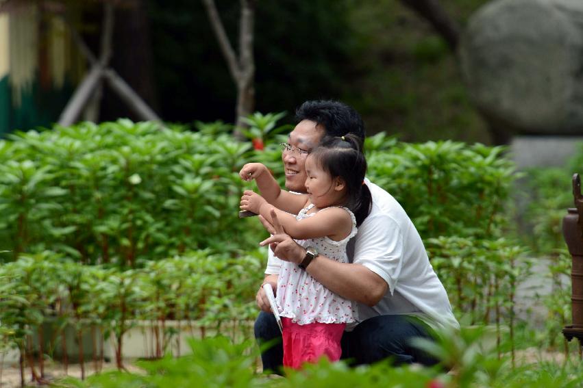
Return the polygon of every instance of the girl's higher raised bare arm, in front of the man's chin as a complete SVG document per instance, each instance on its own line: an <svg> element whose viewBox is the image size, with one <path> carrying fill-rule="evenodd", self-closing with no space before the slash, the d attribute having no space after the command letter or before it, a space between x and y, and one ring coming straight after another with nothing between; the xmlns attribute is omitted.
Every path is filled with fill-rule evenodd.
<svg viewBox="0 0 583 388"><path fill-rule="evenodd" d="M288 213L298 214L303 209L303 206L306 205L306 201L308 201L308 196L306 195L291 194L290 192L286 192L286 190L282 190L264 164L247 163L241 168L239 176L244 181L255 179L257 187L259 187L259 191L265 201L277 207L277 209L287 211Z"/></svg>

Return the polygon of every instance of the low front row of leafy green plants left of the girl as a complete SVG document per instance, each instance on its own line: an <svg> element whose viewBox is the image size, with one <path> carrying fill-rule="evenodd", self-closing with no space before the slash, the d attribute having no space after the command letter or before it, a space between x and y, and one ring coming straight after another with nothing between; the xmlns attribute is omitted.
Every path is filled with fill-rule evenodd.
<svg viewBox="0 0 583 388"><path fill-rule="evenodd" d="M181 335L166 328L169 319L246 337L247 329L239 324L256 316L254 297L265 256L264 249L239 257L201 250L151 261L142 269L118 270L86 266L49 251L21 255L0 266L1 342L18 348L34 368L36 352L58 347L66 353L71 346L61 335L66 326L79 338L91 329L101 348L112 336L117 365L123 368L123 335L138 320L151 322L153 357L162 357ZM45 322L56 322L57 333L48 344L40 339L40 348L30 348Z"/></svg>

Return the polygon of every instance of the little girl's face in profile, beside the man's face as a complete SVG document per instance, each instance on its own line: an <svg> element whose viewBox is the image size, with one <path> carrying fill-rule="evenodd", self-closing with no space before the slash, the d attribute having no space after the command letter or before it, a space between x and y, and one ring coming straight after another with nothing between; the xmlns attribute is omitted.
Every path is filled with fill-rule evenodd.
<svg viewBox="0 0 583 388"><path fill-rule="evenodd" d="M313 157L306 159L306 192L310 202L319 207L342 205L345 196L345 184L342 179L330 177Z"/></svg>

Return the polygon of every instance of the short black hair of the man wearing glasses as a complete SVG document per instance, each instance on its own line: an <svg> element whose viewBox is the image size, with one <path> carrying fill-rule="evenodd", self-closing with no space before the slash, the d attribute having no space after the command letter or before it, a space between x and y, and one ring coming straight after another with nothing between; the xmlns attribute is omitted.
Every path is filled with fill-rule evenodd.
<svg viewBox="0 0 583 388"><path fill-rule="evenodd" d="M295 112L297 122L301 120L312 120L321 125L327 136L339 138L340 136L353 133L360 138L360 149L366 134L364 133L364 122L356 110L341 103L340 101L316 100L306 101L297 108Z"/></svg>

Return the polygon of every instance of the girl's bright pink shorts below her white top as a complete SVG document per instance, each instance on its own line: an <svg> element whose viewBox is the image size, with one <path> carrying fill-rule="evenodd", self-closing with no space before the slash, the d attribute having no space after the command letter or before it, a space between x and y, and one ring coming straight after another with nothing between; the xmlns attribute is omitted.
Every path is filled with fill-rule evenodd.
<svg viewBox="0 0 583 388"><path fill-rule="evenodd" d="M340 339L346 324L293 323L282 317L284 327L284 366L301 369L303 363L316 363L325 356L338 361L342 354Z"/></svg>

